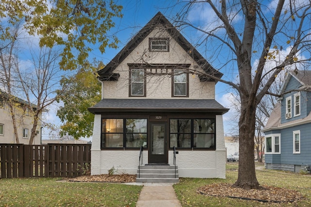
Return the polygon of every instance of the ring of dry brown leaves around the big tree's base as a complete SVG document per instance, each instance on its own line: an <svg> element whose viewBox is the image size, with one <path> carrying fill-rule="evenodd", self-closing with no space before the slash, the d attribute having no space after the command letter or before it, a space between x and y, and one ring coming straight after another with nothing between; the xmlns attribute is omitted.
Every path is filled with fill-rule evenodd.
<svg viewBox="0 0 311 207"><path fill-rule="evenodd" d="M294 202L303 199L303 195L300 192L286 188L263 186L268 190L244 190L231 186L232 184L228 183L215 183L202 186L198 188L197 192L210 196L237 197L273 202Z"/></svg>

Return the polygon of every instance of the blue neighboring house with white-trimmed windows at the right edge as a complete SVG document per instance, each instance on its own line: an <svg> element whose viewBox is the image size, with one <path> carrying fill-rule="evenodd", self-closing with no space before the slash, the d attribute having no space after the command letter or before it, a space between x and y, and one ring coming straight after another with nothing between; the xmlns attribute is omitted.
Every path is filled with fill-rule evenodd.
<svg viewBox="0 0 311 207"><path fill-rule="evenodd" d="M311 71L291 71L263 129L265 167L300 172L311 164Z"/></svg>

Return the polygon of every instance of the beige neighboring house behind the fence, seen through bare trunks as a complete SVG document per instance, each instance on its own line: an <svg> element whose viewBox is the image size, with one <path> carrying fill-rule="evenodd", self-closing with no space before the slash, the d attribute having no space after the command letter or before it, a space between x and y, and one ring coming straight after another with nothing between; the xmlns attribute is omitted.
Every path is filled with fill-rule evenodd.
<svg viewBox="0 0 311 207"><path fill-rule="evenodd" d="M33 127L34 117L30 113L30 109L25 100L15 97L14 113L17 123L17 133L19 143L29 144L31 129ZM32 110L35 110L33 106ZM35 131L35 139L33 144L41 143L41 113L38 125ZM4 92L0 92L0 143L16 143L12 116L9 105L7 104L7 96Z"/></svg>

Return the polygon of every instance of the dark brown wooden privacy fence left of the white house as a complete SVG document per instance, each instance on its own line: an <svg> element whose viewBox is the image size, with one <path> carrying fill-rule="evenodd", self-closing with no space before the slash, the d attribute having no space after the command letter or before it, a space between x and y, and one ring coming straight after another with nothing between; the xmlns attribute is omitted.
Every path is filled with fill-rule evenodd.
<svg viewBox="0 0 311 207"><path fill-rule="evenodd" d="M0 144L0 178L76 177L90 163L91 144Z"/></svg>

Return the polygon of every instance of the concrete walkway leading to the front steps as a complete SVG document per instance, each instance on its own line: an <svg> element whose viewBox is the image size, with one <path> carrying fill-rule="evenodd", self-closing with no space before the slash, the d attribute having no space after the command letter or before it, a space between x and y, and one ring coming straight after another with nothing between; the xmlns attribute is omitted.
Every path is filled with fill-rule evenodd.
<svg viewBox="0 0 311 207"><path fill-rule="evenodd" d="M144 183L136 207L181 207L172 185Z"/></svg>

